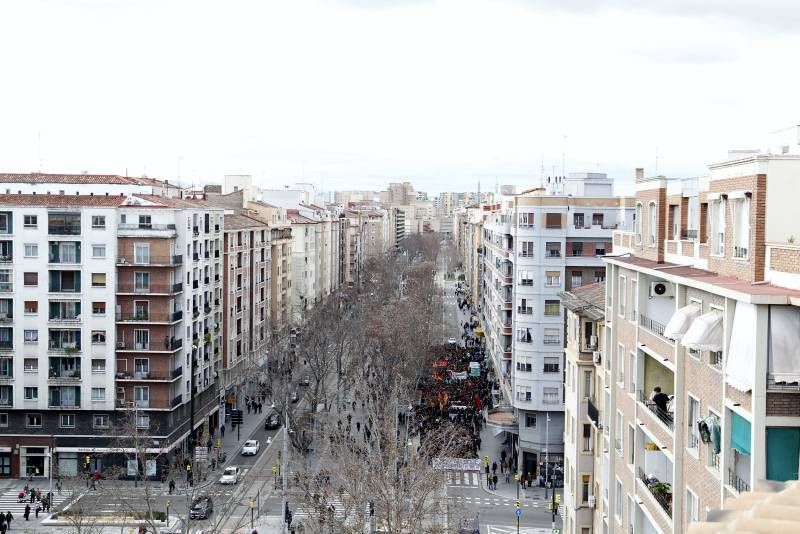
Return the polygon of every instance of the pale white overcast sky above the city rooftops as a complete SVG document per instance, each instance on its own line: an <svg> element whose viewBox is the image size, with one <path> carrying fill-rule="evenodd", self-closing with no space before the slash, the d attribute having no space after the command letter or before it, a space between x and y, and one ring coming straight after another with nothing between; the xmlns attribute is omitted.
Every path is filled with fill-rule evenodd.
<svg viewBox="0 0 800 534"><path fill-rule="evenodd" d="M648 7L650 6L650 7ZM792 0L7 0L0 170L324 190L703 174L798 123Z"/></svg>

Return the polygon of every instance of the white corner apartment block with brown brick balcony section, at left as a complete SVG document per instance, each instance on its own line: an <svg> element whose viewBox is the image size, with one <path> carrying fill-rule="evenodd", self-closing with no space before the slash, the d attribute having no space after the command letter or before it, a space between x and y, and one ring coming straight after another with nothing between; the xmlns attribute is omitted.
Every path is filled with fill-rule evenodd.
<svg viewBox="0 0 800 534"><path fill-rule="evenodd" d="M189 402L182 296L191 227L174 202L0 195L0 477L47 477L50 455L59 473L77 474L81 453L107 452L111 429L131 413L167 451L186 446L193 419L213 422L211 383ZM103 454L91 467L123 462Z"/></svg>

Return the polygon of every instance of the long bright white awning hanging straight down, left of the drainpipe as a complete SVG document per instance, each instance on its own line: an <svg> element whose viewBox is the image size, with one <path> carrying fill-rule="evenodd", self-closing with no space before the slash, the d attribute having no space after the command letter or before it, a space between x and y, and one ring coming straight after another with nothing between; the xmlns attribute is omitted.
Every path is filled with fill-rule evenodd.
<svg viewBox="0 0 800 534"><path fill-rule="evenodd" d="M756 307L736 303L731 328L731 344L725 359L725 379L739 391L753 389L756 374Z"/></svg>

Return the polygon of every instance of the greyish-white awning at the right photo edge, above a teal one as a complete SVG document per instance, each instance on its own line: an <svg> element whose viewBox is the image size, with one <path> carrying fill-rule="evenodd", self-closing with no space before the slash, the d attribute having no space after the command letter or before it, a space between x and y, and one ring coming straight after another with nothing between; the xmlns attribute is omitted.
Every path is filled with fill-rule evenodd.
<svg viewBox="0 0 800 534"><path fill-rule="evenodd" d="M800 308L769 307L767 373L776 383L800 382Z"/></svg>

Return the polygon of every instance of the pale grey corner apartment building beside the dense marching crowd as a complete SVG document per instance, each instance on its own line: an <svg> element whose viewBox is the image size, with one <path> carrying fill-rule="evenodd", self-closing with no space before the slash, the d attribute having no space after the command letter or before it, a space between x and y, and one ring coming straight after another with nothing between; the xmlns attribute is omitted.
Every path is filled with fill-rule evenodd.
<svg viewBox="0 0 800 534"><path fill-rule="evenodd" d="M570 175L547 189L502 197L483 223L486 350L501 398L516 414L511 438L525 472L543 471L545 456L561 463L559 292L603 281L612 230L632 227L633 199L614 197L612 185L605 175Z"/></svg>

